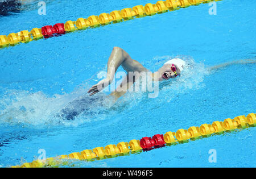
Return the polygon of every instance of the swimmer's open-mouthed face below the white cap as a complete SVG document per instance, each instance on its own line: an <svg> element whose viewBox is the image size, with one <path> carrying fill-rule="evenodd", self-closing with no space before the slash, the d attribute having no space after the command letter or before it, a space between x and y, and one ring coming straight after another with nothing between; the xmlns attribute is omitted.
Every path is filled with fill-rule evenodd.
<svg viewBox="0 0 256 179"><path fill-rule="evenodd" d="M163 81L163 80L169 80L170 78L175 78L176 74L174 73L174 71L171 70L171 66L172 64L165 64L163 65L159 70L159 81ZM176 73L177 75L180 74L180 69L176 67Z"/></svg>

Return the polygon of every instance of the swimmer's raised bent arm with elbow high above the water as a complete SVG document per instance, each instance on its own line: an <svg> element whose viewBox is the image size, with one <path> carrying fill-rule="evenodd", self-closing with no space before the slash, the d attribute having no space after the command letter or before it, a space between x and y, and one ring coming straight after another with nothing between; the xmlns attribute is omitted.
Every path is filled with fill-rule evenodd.
<svg viewBox="0 0 256 179"><path fill-rule="evenodd" d="M98 82L98 84L93 85L92 88L89 89L88 93L90 93L90 95L96 94L106 88L106 86L110 85L114 79L115 72L117 72L117 69L121 65L126 72L142 72L147 70L138 61L131 59L130 55L122 48L114 47L109 57L108 73L106 78Z"/></svg>

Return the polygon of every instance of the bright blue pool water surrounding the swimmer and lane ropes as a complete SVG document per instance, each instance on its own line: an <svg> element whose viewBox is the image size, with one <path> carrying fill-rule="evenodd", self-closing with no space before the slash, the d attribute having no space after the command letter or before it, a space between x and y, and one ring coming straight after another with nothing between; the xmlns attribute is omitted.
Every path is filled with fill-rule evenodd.
<svg viewBox="0 0 256 179"><path fill-rule="evenodd" d="M47 1L47 15L38 15L32 5L20 14L1 16L0 34L148 2L156 3ZM0 49L0 166L31 162L39 156L39 149L45 149L47 157L67 155L255 113L255 63L208 70L234 60L256 59L255 7L250 0L224 0L217 2L217 15L209 15L210 6L202 4ZM176 56L193 68L164 86L157 98L127 93L112 110L93 105L75 120L58 118L63 107L86 96L97 83L96 74L106 70L114 46L125 49L150 70ZM135 155L89 163L73 161L71 165L255 167L255 135L256 128L247 128ZM209 149L216 149L217 163L209 163Z"/></svg>

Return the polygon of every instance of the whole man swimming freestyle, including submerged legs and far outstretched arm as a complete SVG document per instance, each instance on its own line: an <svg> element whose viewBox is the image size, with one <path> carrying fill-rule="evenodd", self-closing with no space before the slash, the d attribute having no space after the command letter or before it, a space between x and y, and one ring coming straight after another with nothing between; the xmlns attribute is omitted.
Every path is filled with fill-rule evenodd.
<svg viewBox="0 0 256 179"><path fill-rule="evenodd" d="M230 61L228 63L212 66L208 68L211 70L216 70L220 68L224 68L233 64L249 64L255 63L255 60L237 60ZM144 66L136 60L131 59L130 55L125 52L122 48L114 47L108 61L108 71L106 74L106 78L101 80L96 85L93 85L92 88L88 90L90 96L102 91L104 88L109 86L115 76L115 72L119 66L122 66L123 69L126 70L127 74L125 78L123 78L121 84L112 92L110 96L108 95L96 95L95 97L88 97L87 95L82 95L79 98L76 98L72 102L70 102L63 110L60 111L60 115L63 119L73 120L79 114L83 113L84 115L92 115L93 113L101 113L101 111L94 111L94 109L104 109L104 106L111 107L113 105L112 102L117 101L122 95L128 91L128 89L138 80L138 76L130 76L129 72L150 72L148 69L144 68ZM152 80L154 81L167 81L171 78L176 78L181 74L184 68L189 68L188 63L181 59L172 59L168 60L163 66L156 72L151 73ZM191 66L192 67L192 66ZM136 73L132 73L136 74ZM107 103L110 102L110 105ZM96 108L97 106L97 108Z"/></svg>

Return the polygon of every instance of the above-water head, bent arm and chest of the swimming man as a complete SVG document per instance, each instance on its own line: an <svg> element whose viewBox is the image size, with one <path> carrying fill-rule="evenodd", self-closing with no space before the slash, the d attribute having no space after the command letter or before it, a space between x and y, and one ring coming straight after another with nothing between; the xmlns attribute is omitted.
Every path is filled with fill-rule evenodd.
<svg viewBox="0 0 256 179"><path fill-rule="evenodd" d="M109 57L108 73L106 78L98 82L98 84L93 85L92 88L88 90L88 93L90 93L90 95L94 95L110 85L113 82L115 72L117 72L119 66L122 66L127 73L133 72L133 74L135 74L135 72L149 72L149 70L144 68L141 63L131 59L130 55L122 48L114 47ZM169 60L164 63L164 65L157 72L152 73L152 80L163 81L170 80L170 78L175 78L180 75L184 66L184 60L177 58ZM138 76L130 76L127 74L118 88L115 89L115 91L113 91L110 95L114 96L115 100L117 100L119 97L126 93L126 91L134 84L135 81L137 81L137 79Z"/></svg>

